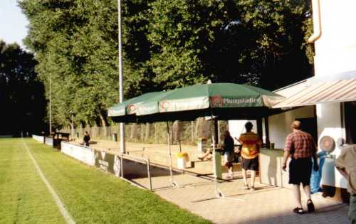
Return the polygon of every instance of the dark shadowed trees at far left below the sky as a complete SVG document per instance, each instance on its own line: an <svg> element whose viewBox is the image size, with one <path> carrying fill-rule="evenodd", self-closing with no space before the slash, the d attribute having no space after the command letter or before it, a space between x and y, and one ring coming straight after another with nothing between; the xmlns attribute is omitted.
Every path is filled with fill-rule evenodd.
<svg viewBox="0 0 356 224"><path fill-rule="evenodd" d="M46 101L33 55L0 40L0 62L0 134L43 131Z"/></svg>

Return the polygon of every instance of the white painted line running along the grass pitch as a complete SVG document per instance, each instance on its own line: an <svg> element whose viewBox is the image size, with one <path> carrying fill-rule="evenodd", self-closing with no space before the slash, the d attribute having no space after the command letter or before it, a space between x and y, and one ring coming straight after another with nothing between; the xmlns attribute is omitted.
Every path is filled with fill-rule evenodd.
<svg viewBox="0 0 356 224"><path fill-rule="evenodd" d="M53 196L53 199L54 201L56 202L59 210L61 211L62 215L63 215L63 218L66 220L67 223L69 224L75 224L75 221L73 220L73 218L70 216L70 214L68 213L68 211L66 210L66 208L64 208L64 205L61 201L61 199L59 199L56 191L53 190L51 184L47 181L46 179L46 176L43 175L40 167L38 166L37 162L36 162L36 159L33 158L32 154L31 154L31 151L30 149L28 149L28 146L26 144L25 141L23 141L23 138L22 139L22 143L23 145L25 146L27 152L28 152L28 155L31 157L32 161L33 161L33 164L35 164L36 166L36 169L37 169L37 172L38 174L41 176L41 179L42 181L46 184L47 188L48 188L48 191L51 193L51 195Z"/></svg>

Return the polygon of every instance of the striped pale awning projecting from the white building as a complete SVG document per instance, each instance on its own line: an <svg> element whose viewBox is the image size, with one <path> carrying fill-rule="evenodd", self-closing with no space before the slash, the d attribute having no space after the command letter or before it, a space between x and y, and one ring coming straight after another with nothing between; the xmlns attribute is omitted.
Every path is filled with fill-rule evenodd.
<svg viewBox="0 0 356 224"><path fill-rule="evenodd" d="M323 102L356 101L356 78L319 82L309 85L273 108L290 108L315 105Z"/></svg>

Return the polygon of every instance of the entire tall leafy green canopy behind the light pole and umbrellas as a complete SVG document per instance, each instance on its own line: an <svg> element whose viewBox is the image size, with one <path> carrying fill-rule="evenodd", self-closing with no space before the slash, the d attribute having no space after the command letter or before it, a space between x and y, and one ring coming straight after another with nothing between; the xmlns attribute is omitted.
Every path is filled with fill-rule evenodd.
<svg viewBox="0 0 356 224"><path fill-rule="evenodd" d="M51 95L53 119L107 125L118 100L117 1L22 0L26 46ZM268 90L310 77L301 0L122 0L125 98L194 83Z"/></svg>

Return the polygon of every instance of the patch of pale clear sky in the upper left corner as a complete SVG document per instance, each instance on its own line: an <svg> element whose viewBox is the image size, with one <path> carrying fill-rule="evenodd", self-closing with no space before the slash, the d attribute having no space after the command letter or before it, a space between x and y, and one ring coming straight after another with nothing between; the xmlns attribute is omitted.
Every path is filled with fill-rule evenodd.
<svg viewBox="0 0 356 224"><path fill-rule="evenodd" d="M0 0L0 38L6 43L18 43L27 35L28 21L16 0Z"/></svg>

